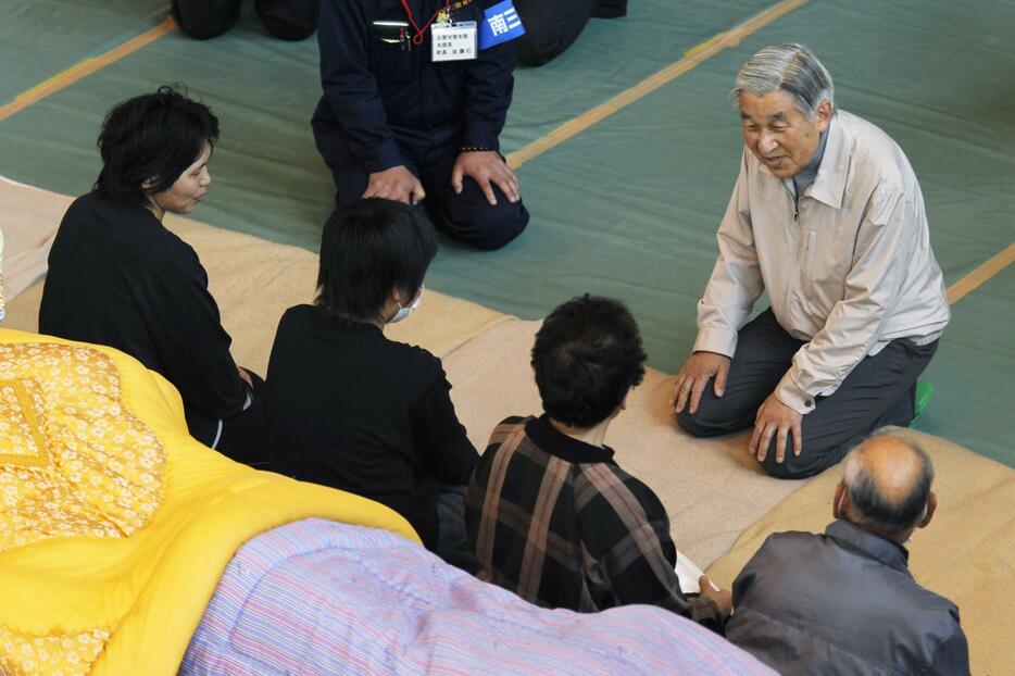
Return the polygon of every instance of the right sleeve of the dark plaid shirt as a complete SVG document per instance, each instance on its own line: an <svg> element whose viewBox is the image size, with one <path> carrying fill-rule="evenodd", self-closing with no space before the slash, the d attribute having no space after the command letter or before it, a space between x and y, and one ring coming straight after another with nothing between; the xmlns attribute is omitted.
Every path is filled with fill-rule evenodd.
<svg viewBox="0 0 1015 676"><path fill-rule="evenodd" d="M680 590L669 517L655 493L625 483L605 464L586 474L599 496L579 511L582 539L617 602L657 605L722 634L725 617L715 602Z"/></svg>

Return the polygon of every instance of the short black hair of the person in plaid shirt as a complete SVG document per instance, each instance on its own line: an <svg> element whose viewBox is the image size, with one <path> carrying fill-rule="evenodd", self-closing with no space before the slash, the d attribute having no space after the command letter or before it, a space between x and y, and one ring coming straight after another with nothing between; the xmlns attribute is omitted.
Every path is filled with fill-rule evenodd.
<svg viewBox="0 0 1015 676"><path fill-rule="evenodd" d="M598 425L641 383L644 360L624 303L588 293L567 301L546 318L532 347L543 411L572 427Z"/></svg>

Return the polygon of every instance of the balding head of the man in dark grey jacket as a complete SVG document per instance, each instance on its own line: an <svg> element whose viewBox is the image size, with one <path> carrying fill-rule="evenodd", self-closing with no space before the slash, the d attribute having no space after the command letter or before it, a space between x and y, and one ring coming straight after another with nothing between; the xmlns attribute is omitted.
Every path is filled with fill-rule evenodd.
<svg viewBox="0 0 1015 676"><path fill-rule="evenodd" d="M909 533L926 515L932 480L922 449L890 435L872 437L845 460L850 521L889 536Z"/></svg>

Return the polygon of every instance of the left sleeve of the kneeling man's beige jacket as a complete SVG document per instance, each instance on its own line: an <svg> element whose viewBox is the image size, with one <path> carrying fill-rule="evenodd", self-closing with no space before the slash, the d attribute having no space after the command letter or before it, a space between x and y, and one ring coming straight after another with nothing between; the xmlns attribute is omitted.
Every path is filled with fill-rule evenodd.
<svg viewBox="0 0 1015 676"><path fill-rule="evenodd" d="M694 352L716 352L732 358L737 351L737 329L765 289L751 227L747 152L744 150L737 185L719 224L719 255L705 292L698 301Z"/></svg>

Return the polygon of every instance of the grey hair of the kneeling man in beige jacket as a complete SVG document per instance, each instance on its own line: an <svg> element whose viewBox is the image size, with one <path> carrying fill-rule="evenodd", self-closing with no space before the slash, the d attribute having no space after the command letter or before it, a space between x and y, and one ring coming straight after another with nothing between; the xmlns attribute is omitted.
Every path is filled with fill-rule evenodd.
<svg viewBox="0 0 1015 676"><path fill-rule="evenodd" d="M774 45L755 52L737 73L731 96L735 100L743 92L763 97L777 89L793 95L797 108L809 120L822 101L835 105L831 76L803 45Z"/></svg>

